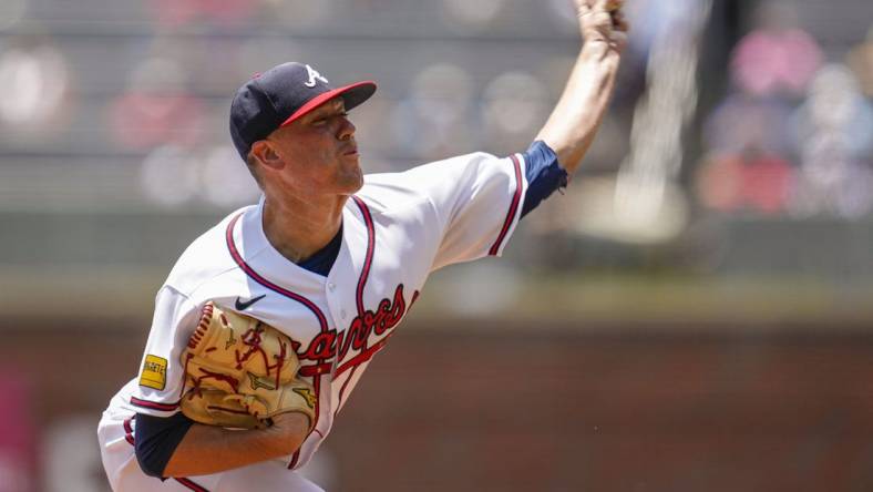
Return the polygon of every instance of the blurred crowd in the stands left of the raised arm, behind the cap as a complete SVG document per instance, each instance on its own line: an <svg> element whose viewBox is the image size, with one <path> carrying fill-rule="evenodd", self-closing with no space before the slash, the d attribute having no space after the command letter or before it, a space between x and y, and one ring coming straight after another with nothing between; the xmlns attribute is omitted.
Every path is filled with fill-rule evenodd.
<svg viewBox="0 0 873 492"><path fill-rule="evenodd" d="M257 189L229 145L227 107L242 81L288 60L335 83L380 81L353 115L369 172L525 148L557 96L564 73L554 69L572 60L572 4L548 2L528 27L530 38L571 47L542 57L489 43L525 23L510 1L418 3L4 1L0 157L28 170L49 161L135 167L136 193L157 206L249 203ZM417 50L403 53L402 40ZM485 66L483 58L507 62ZM130 192L119 187L117 199Z"/></svg>

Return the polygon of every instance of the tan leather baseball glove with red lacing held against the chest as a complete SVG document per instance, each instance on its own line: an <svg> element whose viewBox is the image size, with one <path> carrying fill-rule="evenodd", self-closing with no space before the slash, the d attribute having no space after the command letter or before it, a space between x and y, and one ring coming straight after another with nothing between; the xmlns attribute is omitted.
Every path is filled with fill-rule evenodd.
<svg viewBox="0 0 873 492"><path fill-rule="evenodd" d="M196 422L256 429L277 414L301 412L310 429L315 424L316 394L298 378L291 339L269 325L206 303L182 363L179 404Z"/></svg>

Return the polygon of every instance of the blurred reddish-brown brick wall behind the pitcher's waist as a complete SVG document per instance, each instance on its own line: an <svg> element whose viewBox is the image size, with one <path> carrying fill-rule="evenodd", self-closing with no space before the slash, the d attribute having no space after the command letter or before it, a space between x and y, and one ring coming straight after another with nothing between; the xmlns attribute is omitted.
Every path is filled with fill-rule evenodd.
<svg viewBox="0 0 873 492"><path fill-rule="evenodd" d="M873 490L873 338L557 328L405 325L323 447L330 490ZM96 421L144 339L21 330L0 357L38 422Z"/></svg>

